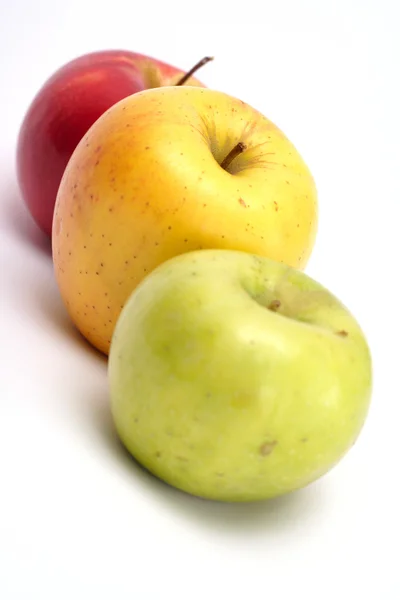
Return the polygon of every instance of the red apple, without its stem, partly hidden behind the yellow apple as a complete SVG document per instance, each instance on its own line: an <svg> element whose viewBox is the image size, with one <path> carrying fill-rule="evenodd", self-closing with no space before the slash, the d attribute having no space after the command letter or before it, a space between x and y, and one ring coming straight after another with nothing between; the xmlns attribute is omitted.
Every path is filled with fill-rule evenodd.
<svg viewBox="0 0 400 600"><path fill-rule="evenodd" d="M122 98L173 85L183 73L143 54L106 50L68 62L46 81L21 125L17 179L31 215L47 236L61 177L91 125ZM203 85L194 77L187 84Z"/></svg>

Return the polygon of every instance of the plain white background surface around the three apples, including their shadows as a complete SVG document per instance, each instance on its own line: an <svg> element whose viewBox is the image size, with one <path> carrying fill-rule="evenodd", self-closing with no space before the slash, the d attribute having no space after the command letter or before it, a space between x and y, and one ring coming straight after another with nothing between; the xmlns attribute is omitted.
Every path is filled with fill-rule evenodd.
<svg viewBox="0 0 400 600"><path fill-rule="evenodd" d="M400 598L396 4L0 0L2 600ZM296 494L201 501L118 444L106 362L66 316L14 171L33 95L66 61L106 48L181 68L214 55L202 80L275 121L315 176L307 272L363 326L374 393L356 446Z"/></svg>

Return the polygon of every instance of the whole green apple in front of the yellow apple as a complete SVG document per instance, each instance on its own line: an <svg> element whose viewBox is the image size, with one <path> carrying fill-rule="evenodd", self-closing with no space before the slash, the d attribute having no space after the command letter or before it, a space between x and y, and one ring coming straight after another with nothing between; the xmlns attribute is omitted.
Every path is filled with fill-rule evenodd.
<svg viewBox="0 0 400 600"><path fill-rule="evenodd" d="M322 285L244 252L170 259L133 292L109 357L128 451L204 498L303 487L355 442L371 395L358 323Z"/></svg>

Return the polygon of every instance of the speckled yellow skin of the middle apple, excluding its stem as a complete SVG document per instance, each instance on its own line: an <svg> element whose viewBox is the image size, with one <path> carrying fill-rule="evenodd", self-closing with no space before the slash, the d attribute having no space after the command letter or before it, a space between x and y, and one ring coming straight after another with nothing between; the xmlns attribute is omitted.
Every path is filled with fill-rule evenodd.
<svg viewBox="0 0 400 600"><path fill-rule="evenodd" d="M128 296L165 260L220 248L303 268L316 228L312 175L270 120L210 89L146 90L102 115L69 161L55 274L72 320L108 354Z"/></svg>

